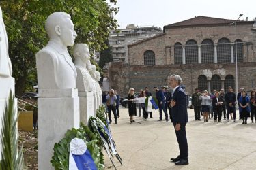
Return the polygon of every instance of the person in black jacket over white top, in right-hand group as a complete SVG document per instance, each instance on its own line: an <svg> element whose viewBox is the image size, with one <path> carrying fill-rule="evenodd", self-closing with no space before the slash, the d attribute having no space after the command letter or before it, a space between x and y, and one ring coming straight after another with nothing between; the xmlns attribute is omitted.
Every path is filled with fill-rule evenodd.
<svg viewBox="0 0 256 170"><path fill-rule="evenodd" d="M223 98L219 97L220 93L215 92L214 98L212 99L212 109L214 112L214 122L217 122L217 116L218 116L218 122L221 122L221 116L223 112Z"/></svg>

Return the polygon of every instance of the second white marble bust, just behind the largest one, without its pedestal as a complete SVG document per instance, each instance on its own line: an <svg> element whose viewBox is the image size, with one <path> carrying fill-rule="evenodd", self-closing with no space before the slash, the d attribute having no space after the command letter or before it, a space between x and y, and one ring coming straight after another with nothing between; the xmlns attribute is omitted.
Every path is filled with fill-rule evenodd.
<svg viewBox="0 0 256 170"><path fill-rule="evenodd" d="M74 45L74 65L76 66L76 86L79 91L94 90L94 81L87 70L87 63L90 60L90 53L87 44Z"/></svg>

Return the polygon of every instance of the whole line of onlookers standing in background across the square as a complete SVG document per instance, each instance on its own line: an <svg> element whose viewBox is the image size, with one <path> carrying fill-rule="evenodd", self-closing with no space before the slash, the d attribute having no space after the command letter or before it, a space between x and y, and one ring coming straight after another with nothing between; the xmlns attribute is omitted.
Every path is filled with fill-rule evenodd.
<svg viewBox="0 0 256 170"><path fill-rule="evenodd" d="M139 117L143 116L144 120L147 118L153 118L152 109L154 105L150 102L153 98L156 101L156 105L159 110L159 120L163 120L162 113L165 114L165 121L171 120L171 100L172 94L167 90L168 86L154 87L153 90L156 92L156 97L152 97L152 92L149 91L148 87L141 89L139 95L135 95L134 88L130 88L128 92L128 114L130 122L134 122L134 116L137 116L139 110ZM183 90L184 86L181 86ZM136 99L145 98L145 103L137 103ZM111 113L115 118L117 124L117 118L119 115L119 99L120 96L117 94L117 90L111 89L109 92L103 92L102 103L106 105L109 122L112 122ZM232 87L228 88L228 92L225 93L222 88L220 91L213 90L212 93L207 90L200 92L199 88L195 89L195 93L192 95L192 105L195 113L195 120L201 120L203 117L204 122L208 122L209 119L213 118L214 122L222 122L224 117L225 122L232 120L237 122L236 116L236 105L239 107L239 119L242 119L242 124L247 124L247 120L251 117L251 122L256 123L256 91L252 90L251 94L247 94L244 88L240 88L240 92L236 95L233 92ZM188 97L187 97L188 104ZM138 109L137 109L138 107Z"/></svg>

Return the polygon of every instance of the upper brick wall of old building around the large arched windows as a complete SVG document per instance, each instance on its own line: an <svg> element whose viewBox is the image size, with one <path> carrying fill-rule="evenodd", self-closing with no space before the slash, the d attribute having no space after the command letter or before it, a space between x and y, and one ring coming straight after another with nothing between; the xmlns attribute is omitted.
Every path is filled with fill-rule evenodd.
<svg viewBox="0 0 256 170"><path fill-rule="evenodd" d="M238 24L237 39L246 42L243 49L245 62L256 61L255 36L252 24ZM166 29L161 36L129 45L129 63L130 65L144 65L144 52L152 50L155 53L156 65L174 64L173 46L175 43L180 42L184 46L190 39L197 41L197 44L201 44L204 39L212 39L214 44L217 44L218 40L223 37L234 43L235 27L227 25Z"/></svg>

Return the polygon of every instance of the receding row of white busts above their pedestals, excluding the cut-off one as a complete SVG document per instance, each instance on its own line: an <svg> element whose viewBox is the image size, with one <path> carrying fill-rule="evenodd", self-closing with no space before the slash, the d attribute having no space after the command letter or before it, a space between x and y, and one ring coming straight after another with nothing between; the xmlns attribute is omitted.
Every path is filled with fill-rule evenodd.
<svg viewBox="0 0 256 170"><path fill-rule="evenodd" d="M54 12L45 24L50 38L48 44L36 54L38 87L44 90L78 89L78 91L98 92L100 73L90 62L87 44L76 44L76 31L69 14ZM68 52L74 46L74 63Z"/></svg>

